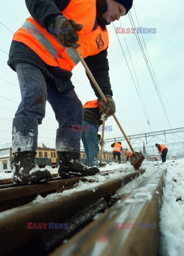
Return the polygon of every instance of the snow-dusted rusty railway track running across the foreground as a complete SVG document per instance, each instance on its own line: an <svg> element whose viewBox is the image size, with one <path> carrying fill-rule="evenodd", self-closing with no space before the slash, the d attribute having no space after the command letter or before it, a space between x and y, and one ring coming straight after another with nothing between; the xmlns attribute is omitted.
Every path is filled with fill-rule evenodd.
<svg viewBox="0 0 184 256"><path fill-rule="evenodd" d="M113 199L114 205L110 207L116 191L139 177L145 170L140 169L129 173L118 170L116 177L112 178L111 174L114 172L117 171L106 171L93 177L78 177L68 180L54 178L48 183L39 185L20 186L15 183L1 185L1 254L112 255L114 253L108 254L107 251L112 252L114 249L111 250L108 246L104 249L105 252L98 250L98 254L94 254L97 245L101 248L103 244L104 247L108 241L108 244L113 245L112 248L114 246L119 248L118 251L115 250L117 252L114 255L122 255L120 251L124 251L123 246L125 246L123 241L126 244L127 237L129 237L134 243L134 239L136 236L139 237L141 232L138 230L136 233L134 229L134 233L132 233L132 229L116 229L114 221L129 221L127 223L147 221L146 223L149 223L151 220L145 219L145 214L146 211L151 211L153 212L151 214L152 221L158 225L158 212L161 205L165 173L160 174L160 179L157 180L154 187L150 186L151 195L140 194L139 190L146 186L142 184L140 188L137 188L139 189L137 192L133 190L136 194L128 195L121 200L118 197ZM85 184L86 189L80 188L81 182ZM149 192L146 190L146 194L150 194ZM34 200L36 196L37 198ZM137 197L140 198L139 202L135 201ZM115 203L115 201L118 202ZM133 202L136 202L134 206ZM97 213L102 214L101 217L93 220ZM122 219L122 216L125 219ZM129 218L130 216L131 218ZM37 228L28 228L33 227L34 223L36 223L35 227ZM42 223L39 225L40 228L38 228L38 223ZM43 223L45 223L44 225L47 224L45 228ZM63 228L64 225L68 228ZM125 238L123 238L123 234L125 234L123 231L127 231L128 234ZM155 239L158 239L159 228L152 230L152 232L148 231L152 233L152 241L155 243ZM147 237L149 236L147 235ZM66 239L69 239L69 242L64 244ZM100 242L103 239L107 239L106 242ZM54 251L56 247L57 250ZM129 252L129 249L126 250Z"/></svg>

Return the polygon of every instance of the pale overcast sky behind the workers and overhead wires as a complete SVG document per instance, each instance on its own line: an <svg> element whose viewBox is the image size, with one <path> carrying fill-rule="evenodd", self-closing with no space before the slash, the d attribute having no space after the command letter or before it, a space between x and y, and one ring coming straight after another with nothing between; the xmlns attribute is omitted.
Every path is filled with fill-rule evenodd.
<svg viewBox="0 0 184 256"><path fill-rule="evenodd" d="M87 2L87 0L86 0ZM127 62L121 50L118 37L114 27L132 28L128 15L108 26L110 46L108 48L108 61L110 64L110 79L113 90L113 99L116 103L116 116L118 117L127 135L154 132L184 127L183 109L183 13L184 3L178 0L177 3L168 1L147 1L134 0L134 7L142 28L156 28L156 34L143 34L150 61L156 77L158 90L164 103L168 119L158 98L155 85L148 72L146 62L141 53L135 34L118 34L122 49L126 56L135 84L133 83ZM135 11L131 9L131 15L138 26ZM4 26L11 31L16 31L24 20L29 17L29 12L24 1L8 0L1 6L1 20ZM120 24L121 22L121 24ZM9 53L13 33L0 23L1 42L0 49ZM133 26L134 27L134 26ZM135 69L133 71L129 58L126 43ZM144 47L143 38L139 38ZM11 141L12 119L20 102L20 90L16 73L7 66L8 55L0 51L0 145ZM145 50L146 52L146 50ZM150 65L150 64L149 64ZM5 79L6 81L4 81ZM138 82L137 82L138 81ZM94 100L93 89L91 89L84 68L79 63L73 70L72 82L76 87L79 99L84 104L88 100ZM11 84L13 83L13 84ZM136 85L136 87L135 87ZM137 90L139 95L137 93ZM140 91L139 91L140 88ZM139 97L142 98L142 103ZM5 98L5 99L4 99ZM143 106L145 108L143 109ZM146 115L145 115L146 111ZM147 124L147 116L150 125ZM170 123L170 125L169 125ZM112 125L112 131L105 132L105 138L122 136L119 127L113 120L108 118L106 125ZM39 143L47 147L55 147L55 131L57 123L51 106L47 103L46 116L43 124L39 126ZM178 137L178 135L180 137ZM169 134L166 137L167 143L183 141L184 133L177 135ZM149 137L148 141L151 138ZM143 140L132 140L133 147L143 146ZM155 143L165 143L163 136L153 138L148 146ZM127 143L123 141L123 147ZM183 149L183 146L180 150ZM109 145L106 146L109 150ZM170 149L172 150L172 148Z"/></svg>

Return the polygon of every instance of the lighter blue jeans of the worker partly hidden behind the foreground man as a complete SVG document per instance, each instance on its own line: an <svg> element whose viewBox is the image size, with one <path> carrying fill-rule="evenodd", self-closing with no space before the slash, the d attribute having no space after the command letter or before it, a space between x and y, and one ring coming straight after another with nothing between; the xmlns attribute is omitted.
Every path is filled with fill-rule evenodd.
<svg viewBox="0 0 184 256"><path fill-rule="evenodd" d="M82 131L82 143L83 147L85 148L86 153L86 159L88 166L96 165L98 166L98 133L97 130L94 129L94 125L83 121L83 125L85 126L91 126L91 129L88 129L90 131Z"/></svg>

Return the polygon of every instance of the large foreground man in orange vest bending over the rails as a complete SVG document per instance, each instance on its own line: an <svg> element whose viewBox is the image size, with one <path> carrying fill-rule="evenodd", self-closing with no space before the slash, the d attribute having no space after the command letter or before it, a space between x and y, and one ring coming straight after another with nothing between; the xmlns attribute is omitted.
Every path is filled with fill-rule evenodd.
<svg viewBox="0 0 184 256"><path fill-rule="evenodd" d="M8 65L16 71L21 89L21 103L13 119L15 171L13 178L23 184L51 180L51 174L35 163L38 125L45 116L46 100L51 104L58 129L56 151L62 178L93 175L97 167L80 162L83 108L71 82L72 69L79 63L79 50L104 93L99 108L115 113L108 75L108 32L106 25L128 13L133 0L26 0L31 17L14 33Z"/></svg>

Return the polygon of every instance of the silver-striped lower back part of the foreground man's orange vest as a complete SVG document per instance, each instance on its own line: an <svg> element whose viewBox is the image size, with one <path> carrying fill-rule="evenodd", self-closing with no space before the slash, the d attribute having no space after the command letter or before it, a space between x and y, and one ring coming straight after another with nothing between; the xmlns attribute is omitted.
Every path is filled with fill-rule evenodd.
<svg viewBox="0 0 184 256"><path fill-rule="evenodd" d="M39 31L40 34L29 33L30 28ZM26 19L22 27L15 32L13 40L28 45L49 66L59 66L71 71L79 62L73 48L62 46L55 35L49 34L32 18Z"/></svg>

